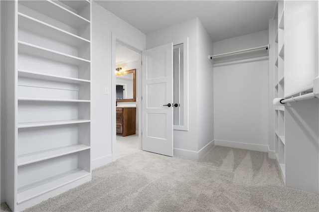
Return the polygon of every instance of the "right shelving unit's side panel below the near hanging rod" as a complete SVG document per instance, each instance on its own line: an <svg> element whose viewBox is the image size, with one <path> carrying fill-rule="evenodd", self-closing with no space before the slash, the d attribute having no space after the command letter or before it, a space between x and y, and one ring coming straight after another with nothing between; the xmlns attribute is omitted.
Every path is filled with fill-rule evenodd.
<svg viewBox="0 0 319 212"><path fill-rule="evenodd" d="M319 193L319 100L291 103L285 110L286 185Z"/></svg>

